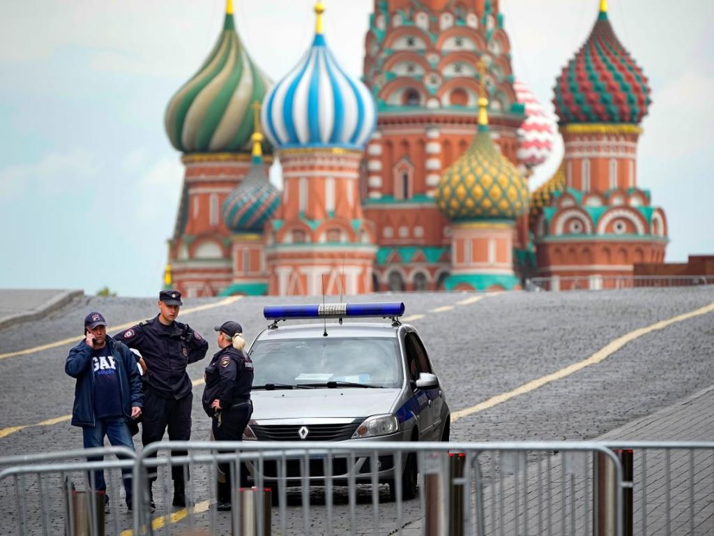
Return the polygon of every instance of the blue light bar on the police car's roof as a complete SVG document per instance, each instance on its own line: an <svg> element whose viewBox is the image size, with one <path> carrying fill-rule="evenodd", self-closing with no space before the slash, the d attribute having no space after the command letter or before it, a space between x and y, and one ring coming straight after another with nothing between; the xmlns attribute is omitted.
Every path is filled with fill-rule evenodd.
<svg viewBox="0 0 714 536"><path fill-rule="evenodd" d="M266 320L358 317L393 318L401 317L403 314L403 302L266 305L266 307L263 307L263 316L266 317Z"/></svg>

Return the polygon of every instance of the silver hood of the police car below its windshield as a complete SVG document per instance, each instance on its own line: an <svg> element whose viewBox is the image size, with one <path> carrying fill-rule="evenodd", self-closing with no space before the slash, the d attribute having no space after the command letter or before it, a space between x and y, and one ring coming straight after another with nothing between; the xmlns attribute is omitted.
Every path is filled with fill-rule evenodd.
<svg viewBox="0 0 714 536"><path fill-rule="evenodd" d="M251 392L253 416L251 419L293 419L303 424L312 419L340 418L351 420L388 413L401 389L293 389Z"/></svg>

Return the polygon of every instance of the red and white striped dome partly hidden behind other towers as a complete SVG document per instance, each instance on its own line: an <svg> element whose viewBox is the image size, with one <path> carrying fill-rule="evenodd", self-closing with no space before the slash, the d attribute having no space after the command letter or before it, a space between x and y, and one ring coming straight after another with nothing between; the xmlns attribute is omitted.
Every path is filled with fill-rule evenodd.
<svg viewBox="0 0 714 536"><path fill-rule="evenodd" d="M526 167L543 164L553 150L555 117L545 113L543 106L526 84L516 80L513 83L516 99L526 107L526 121L518 129L518 152L516 157Z"/></svg>

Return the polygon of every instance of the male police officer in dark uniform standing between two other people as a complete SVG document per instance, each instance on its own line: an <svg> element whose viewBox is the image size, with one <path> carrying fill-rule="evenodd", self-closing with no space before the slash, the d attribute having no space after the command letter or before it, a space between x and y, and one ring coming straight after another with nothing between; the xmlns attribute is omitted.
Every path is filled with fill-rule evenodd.
<svg viewBox="0 0 714 536"><path fill-rule="evenodd" d="M161 441L166 427L169 440L191 439L191 379L186 366L206 357L208 342L188 324L176 322L181 307L181 293L162 290L159 293L159 314L120 332L115 339L141 352L146 366L144 380L144 411L141 442ZM175 451L176 456L186 452ZM174 506L186 506L186 487L183 467L171 467L174 480ZM156 480L156 471L149 474L150 482ZM151 487L149 488L151 492ZM153 495L151 505L154 506Z"/></svg>

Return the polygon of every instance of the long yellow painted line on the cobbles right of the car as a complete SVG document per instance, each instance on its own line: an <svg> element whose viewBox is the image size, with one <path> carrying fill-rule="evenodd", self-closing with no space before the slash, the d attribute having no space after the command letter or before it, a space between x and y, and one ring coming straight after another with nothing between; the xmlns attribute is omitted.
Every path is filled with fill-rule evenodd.
<svg viewBox="0 0 714 536"><path fill-rule="evenodd" d="M568 365L568 367L564 367L551 374L546 374L545 376L542 376L538 379L533 379L531 380L531 382L525 383L520 387L516 387L516 389L513 389L513 391L498 394L495 397L491 397L488 400L484 400L483 402L475 406L467 407L466 409L459 410L458 412L453 412L451 414L451 421L455 422L461 419L461 417L466 417L467 415L473 415L474 413L478 413L483 410L488 410L491 407L501 404L502 402L506 402L507 400L510 400L512 398L518 397L521 394L526 394L528 392L534 391L535 389L538 389L539 387L543 387L543 385L545 384L549 384L550 382L555 382L558 379L568 377L570 376L570 374L575 374L575 372L578 372L579 370L582 370L585 367L590 367L590 365L602 362L603 360L610 357L610 355L617 352L620 348L625 346L625 344L628 344L628 342L632 342L633 340L638 339L643 335L658 331L658 329L664 329L665 327L668 327L672 324L676 324L677 322L683 322L684 320L688 320L693 317L698 317L702 314L707 314L708 312L712 311L714 311L714 303L711 303L705 307L700 307L700 309L695 309L694 311L690 311L688 313L678 314L676 317L672 317L670 319L660 320L660 322L655 322L655 324L650 324L646 327L640 327L639 329L635 329L629 333L624 334L622 337L618 337L617 339L613 340L613 342L610 342L609 344L600 348L597 352L595 352L587 359L583 359L582 361L579 361L577 363L570 364Z"/></svg>

